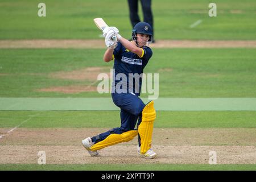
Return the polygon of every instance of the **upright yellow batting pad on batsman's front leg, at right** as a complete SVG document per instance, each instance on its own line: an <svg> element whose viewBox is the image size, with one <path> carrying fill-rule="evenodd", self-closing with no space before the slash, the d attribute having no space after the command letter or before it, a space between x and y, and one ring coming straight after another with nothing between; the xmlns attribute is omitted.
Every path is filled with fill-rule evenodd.
<svg viewBox="0 0 256 182"><path fill-rule="evenodd" d="M151 101L142 111L142 122L138 128L141 137L141 154L145 154L151 147L155 118L154 101Z"/></svg>

